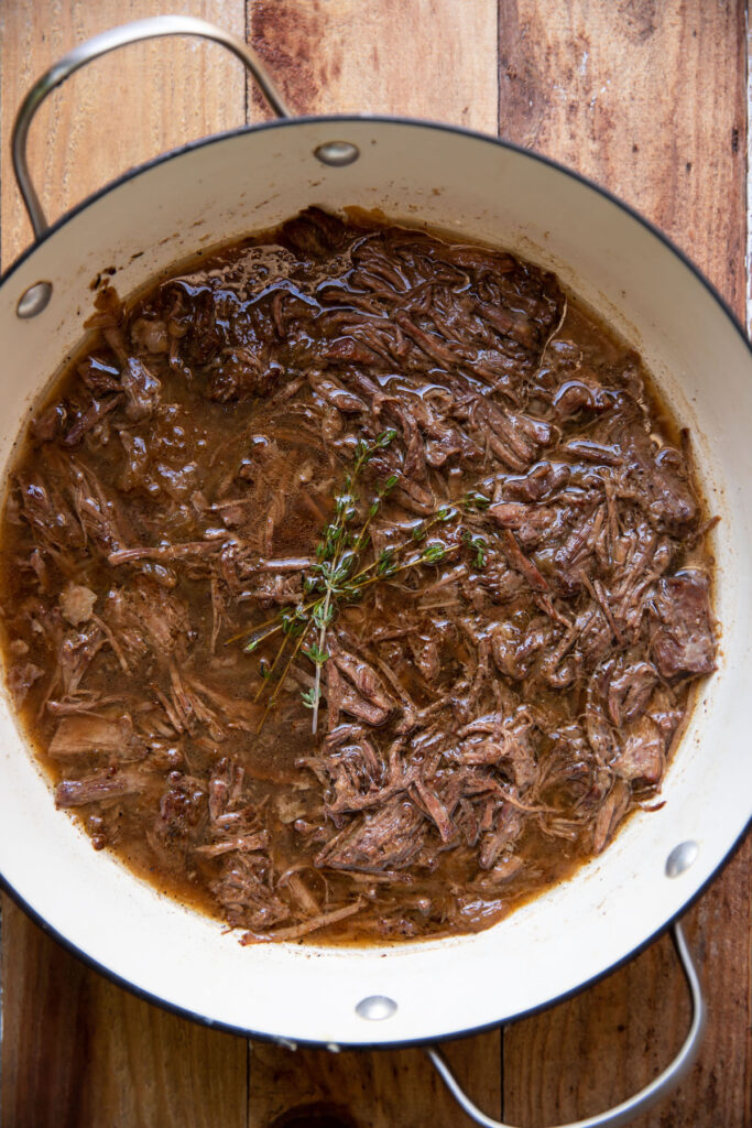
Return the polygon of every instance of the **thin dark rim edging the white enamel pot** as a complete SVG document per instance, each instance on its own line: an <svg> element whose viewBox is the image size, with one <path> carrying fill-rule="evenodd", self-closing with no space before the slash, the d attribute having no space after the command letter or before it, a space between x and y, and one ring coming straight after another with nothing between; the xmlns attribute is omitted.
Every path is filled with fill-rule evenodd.
<svg viewBox="0 0 752 1128"><path fill-rule="evenodd" d="M377 124L386 123L392 125L407 125L417 129L431 129L442 133L457 133L461 136L467 136L475 141L483 141L486 144L497 146L498 148L502 149L508 149L512 152L517 153L519 156L527 157L530 160L539 161L541 165L547 165L549 168L552 168L560 175L567 176L576 180L584 187L590 188L592 192L598 193L598 195L600 196L603 196L603 199L608 200L609 203L613 204L620 211L626 212L631 219L636 220L644 228L646 228L646 230L648 230L653 236L655 236L655 238L658 239L658 241L662 243L667 250L670 250L673 255L675 255L680 259L680 262L682 262L684 266L690 271L690 273L692 273L695 277L701 283L701 285L708 291L710 297L715 300L716 305L719 306L722 312L725 314L732 327L736 331L742 342L746 346L747 352L752 356L752 344L750 343L750 340L744 331L744 327L742 326L742 323L740 321L733 309L729 307L729 305L726 302L725 298L723 298L720 292L713 284L713 282L710 282L710 280L691 261L691 258L689 258L688 255L684 254L684 252L680 247L678 247L664 231L661 230L661 228L656 227L655 223L652 222L652 220L640 214L640 212L638 212L637 209L632 208L631 204L625 203L625 201L620 200L608 188L604 188L600 184L596 184L594 180L591 180L589 177L584 176L582 173L578 173L576 169L567 168L565 165L561 165L559 161L554 160L551 157L546 157L542 153L536 152L531 149L525 149L523 146L515 144L512 141L505 141L502 138L495 138L492 136L490 134L480 133L477 130L468 130L460 125L448 125L441 122L422 121L421 118L415 118L415 117L396 117L393 115L388 115L388 114L321 114L321 115L315 114L310 116L295 117L283 121L259 122L258 124L255 125L245 125L240 126L239 129L228 130L223 133L216 133L210 138L201 138L197 141L192 141L188 144L180 146L180 148L178 149L174 149L170 150L169 152L161 153L159 157L154 157L152 160L144 161L142 165L138 165L134 168L129 169L122 176L117 177L117 179L112 180L109 184L104 185L92 195L87 196L74 208L72 208L70 211L65 212L57 220L55 220L54 223L52 223L44 232L42 238L33 243L29 247L26 248L26 250L21 252L18 258L16 258L7 268L7 271L5 271L5 273L0 275L0 287L3 287L6 282L15 274L18 267L23 263L25 263L26 259L29 258L34 254L34 252L37 250L38 247L41 247L44 243L47 241L47 239L50 239L53 235L55 235L56 231L59 231L62 227L64 227L68 222L70 222L70 220L79 215L90 204L95 203L101 196L105 196L108 193L114 192L116 188L121 187L121 185L127 183L129 180L134 179L142 173L145 173L149 169L157 167L158 165L166 164L168 160L172 160L176 157L182 157L185 153L193 152L195 149L207 148L209 146L216 144L218 142L228 140L229 138L240 136L246 133L257 133L269 129L289 129L291 126L300 124L326 124L328 122L331 122L334 124L346 123L346 122L368 124L369 122L374 122ZM642 941L635 948L630 949L630 951L627 952L619 960L616 960L613 963L609 964L609 967L604 968L602 971L596 972L590 979L583 980L583 982L578 984L576 987L573 987L570 990L563 992L560 995L556 995L554 998L547 999L545 1003L541 1003L538 1006L530 1007L529 1010L521 1011L513 1015L508 1015L501 1021L496 1020L493 1022L484 1023L478 1026L470 1026L465 1030L453 1031L451 1033L437 1034L435 1038L417 1038L417 1039L409 1039L405 1041L393 1041L393 1042L387 1042L387 1041L365 1042L365 1043L338 1042L337 1045L340 1046L343 1049L361 1049L361 1050L389 1049L389 1048L408 1047L408 1046L409 1047L432 1046L437 1040L441 1040L442 1042L453 1041L459 1038L469 1038L472 1034L479 1034L487 1030L495 1030L499 1025L507 1025L510 1023L517 1022L523 1017L531 1017L532 1015L538 1014L541 1011L548 1010L551 1006L556 1006L558 1003L564 1003L566 999L572 998L575 995L578 995L581 992L585 990L589 987L592 987L594 984L599 982L601 979L604 979L613 971L617 971L620 967L628 963L636 955L643 952L646 948L653 944L660 936L662 936L671 927L674 920L678 920L679 917L681 917L689 908L691 908L691 906L698 900L699 897L702 896L702 893L710 885L710 883L715 881L715 879L718 876L724 866L740 849L742 843L746 837L746 832L751 826L752 826L752 817L750 817L750 820L742 828L735 841L727 851L727 853L718 862L716 867L710 872L710 874L706 878L706 880L696 890L692 891L692 893L682 902L680 908L672 916L670 916L666 920L662 922L662 924L657 928L655 928L644 941ZM72 943L61 933L59 933L35 909L33 909L24 900L20 893L6 880L6 878L2 874L0 874L0 888L16 902L16 905L18 905L20 909L23 909L23 911L39 928L42 928L43 932L45 932L48 936L52 936L59 944L61 944L62 948L71 952L74 957L77 957L85 964L87 964L87 967L92 968L99 975L104 976L105 979L108 979L117 987L122 987L123 989L130 992L138 998L144 999L148 1003L152 1003L156 1006L159 1006L161 1010L168 1011L171 1014L177 1014L180 1017L189 1019L193 1022L198 1022L202 1025L210 1026L214 1030L221 1030L227 1033L238 1034L239 1037L242 1038L250 1038L257 1041L273 1042L277 1045L291 1043L294 1046L311 1047L311 1048L320 1048L322 1045L325 1045L322 1041L318 1040L300 1039L297 1038L295 1036L290 1036L287 1038L282 1034L274 1036L274 1034L263 1033L247 1026L235 1026L230 1023L218 1022L207 1015L198 1014L195 1011L191 1011L187 1007L178 1006L176 1003L168 1003L167 1001L160 998L158 995L152 995L145 988L136 987L127 979L122 978L116 972L112 971L109 968L99 963L87 952L82 951L74 943Z"/></svg>

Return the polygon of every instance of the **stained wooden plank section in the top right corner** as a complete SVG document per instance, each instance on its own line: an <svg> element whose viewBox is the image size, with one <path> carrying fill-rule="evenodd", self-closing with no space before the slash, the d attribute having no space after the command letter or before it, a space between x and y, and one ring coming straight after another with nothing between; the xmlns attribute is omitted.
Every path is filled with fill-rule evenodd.
<svg viewBox="0 0 752 1128"><path fill-rule="evenodd" d="M744 301L743 0L503 0L499 133L603 184Z"/></svg>

